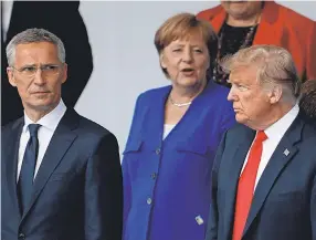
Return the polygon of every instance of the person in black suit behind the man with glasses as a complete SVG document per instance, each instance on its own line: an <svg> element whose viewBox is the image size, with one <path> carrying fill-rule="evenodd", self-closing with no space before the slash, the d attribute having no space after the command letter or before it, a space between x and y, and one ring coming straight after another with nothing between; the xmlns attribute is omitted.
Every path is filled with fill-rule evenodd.
<svg viewBox="0 0 316 240"><path fill-rule="evenodd" d="M69 79L62 86L65 105L74 107L93 71L92 50L78 1L1 1L1 125L23 115L18 92L10 86L6 46L19 32L43 28L61 38L67 50Z"/></svg>

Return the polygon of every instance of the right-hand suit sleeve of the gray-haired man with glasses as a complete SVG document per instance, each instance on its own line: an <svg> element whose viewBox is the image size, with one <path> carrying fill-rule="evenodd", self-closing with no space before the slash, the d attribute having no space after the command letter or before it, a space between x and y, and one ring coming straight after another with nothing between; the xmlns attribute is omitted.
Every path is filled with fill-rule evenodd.
<svg viewBox="0 0 316 240"><path fill-rule="evenodd" d="M123 182L117 139L107 134L88 159L85 174L85 239L120 240Z"/></svg>

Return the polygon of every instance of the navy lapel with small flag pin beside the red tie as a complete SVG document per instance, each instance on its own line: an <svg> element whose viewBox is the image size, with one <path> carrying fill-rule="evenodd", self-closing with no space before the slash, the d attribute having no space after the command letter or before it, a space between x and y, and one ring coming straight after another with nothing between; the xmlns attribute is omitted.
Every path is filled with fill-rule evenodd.
<svg viewBox="0 0 316 240"><path fill-rule="evenodd" d="M275 152L273 153L267 166L265 167L254 192L253 201L251 205L250 213L245 223L244 232L246 233L251 223L259 215L260 209L264 205L274 182L282 173L283 168L293 159L297 153L295 144L301 140L302 129L304 123L301 121L299 115L287 129Z"/></svg>

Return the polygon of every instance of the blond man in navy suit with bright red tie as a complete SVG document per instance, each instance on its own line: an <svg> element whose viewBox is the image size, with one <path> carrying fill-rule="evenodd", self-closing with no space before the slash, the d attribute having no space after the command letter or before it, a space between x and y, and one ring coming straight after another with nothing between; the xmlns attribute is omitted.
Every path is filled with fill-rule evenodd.
<svg viewBox="0 0 316 240"><path fill-rule="evenodd" d="M316 132L302 116L291 54L255 45L223 64L240 123L212 171L207 240L315 240Z"/></svg>

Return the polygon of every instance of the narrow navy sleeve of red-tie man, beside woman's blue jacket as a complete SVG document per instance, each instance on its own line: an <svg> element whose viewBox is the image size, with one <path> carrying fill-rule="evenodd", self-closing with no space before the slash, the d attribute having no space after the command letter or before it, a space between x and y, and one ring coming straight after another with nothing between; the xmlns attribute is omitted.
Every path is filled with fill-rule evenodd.
<svg viewBox="0 0 316 240"><path fill-rule="evenodd" d="M208 220L208 228L206 240L218 240L218 222L219 222L219 209L218 209L218 175L219 168L222 160L222 155L225 148L227 133L222 137L220 146L217 150L214 165L212 169L212 182L211 182L211 205Z"/></svg>

